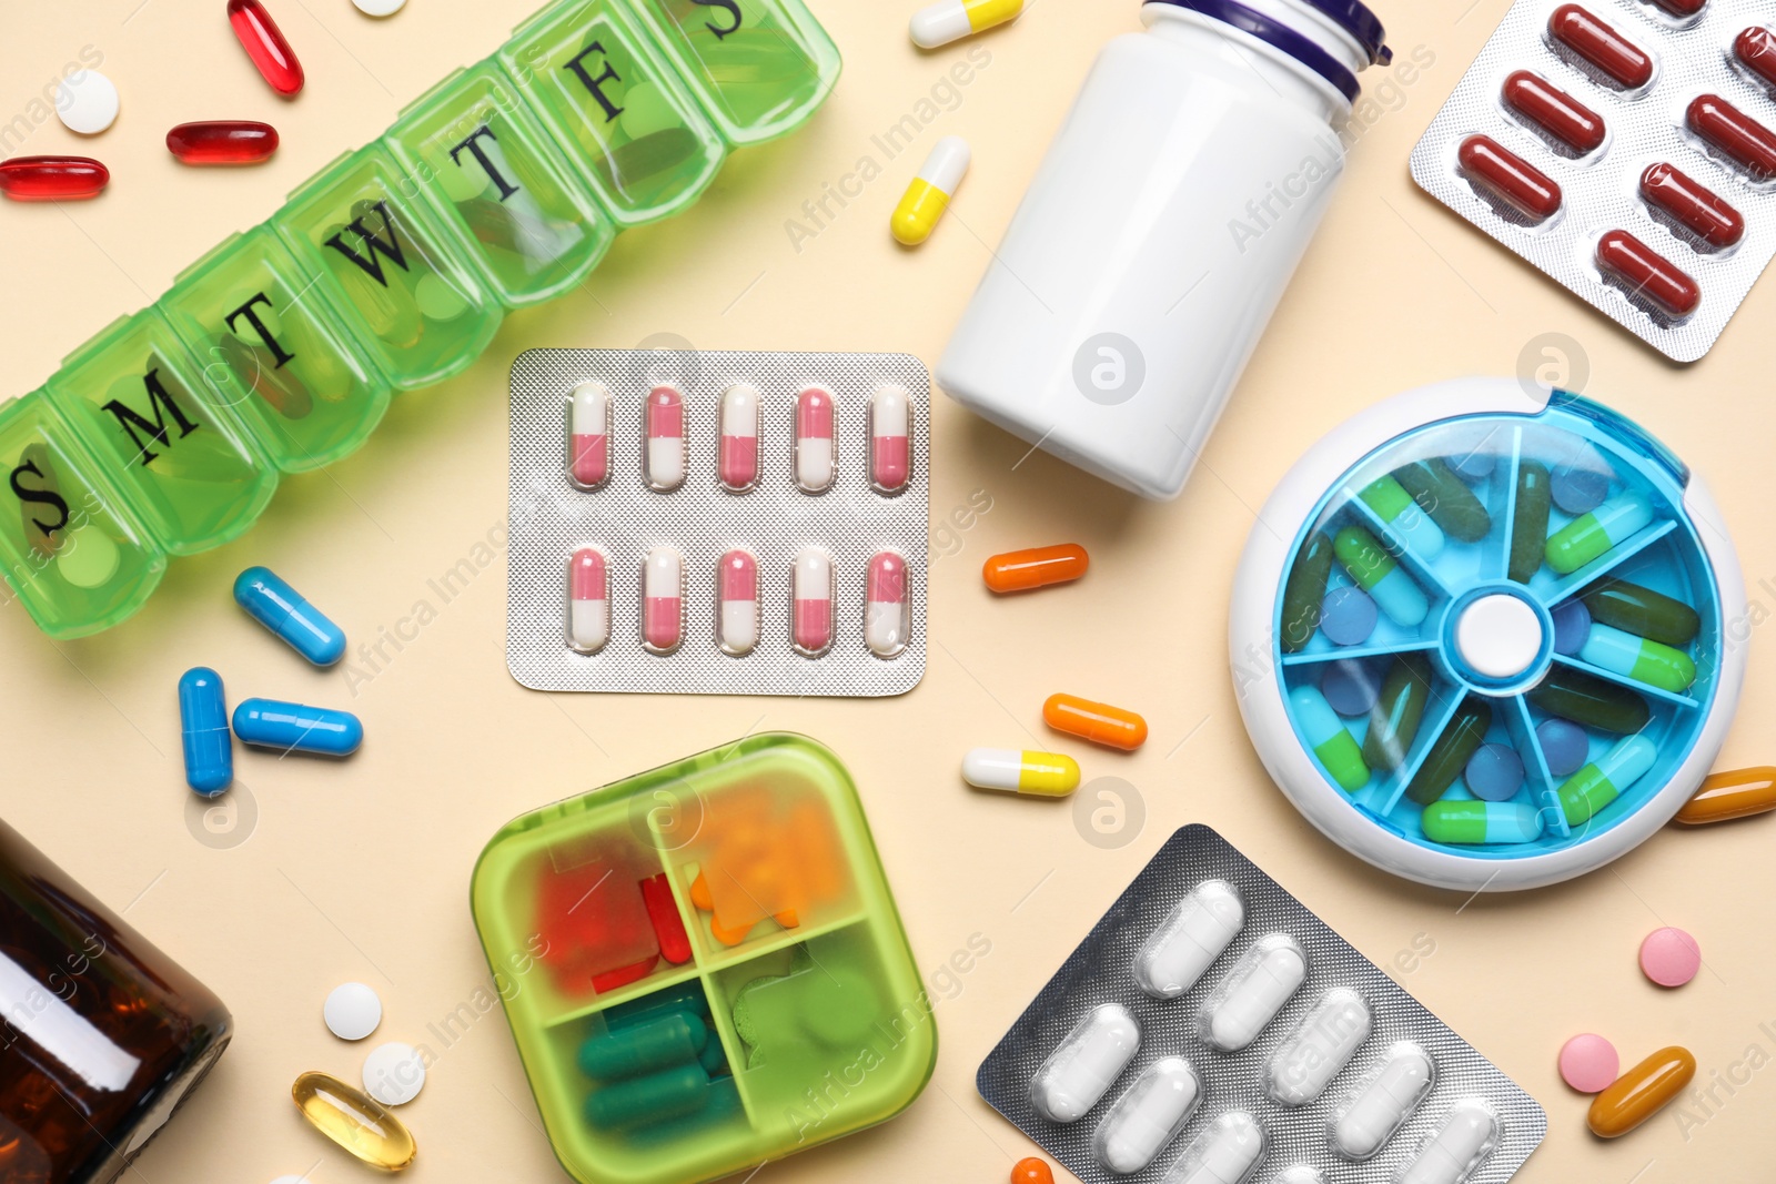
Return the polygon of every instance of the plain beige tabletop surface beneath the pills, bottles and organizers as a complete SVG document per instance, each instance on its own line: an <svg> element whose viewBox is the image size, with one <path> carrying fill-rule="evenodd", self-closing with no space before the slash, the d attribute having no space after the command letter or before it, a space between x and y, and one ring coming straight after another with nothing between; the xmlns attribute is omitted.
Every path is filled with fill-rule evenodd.
<svg viewBox="0 0 1776 1184"><path fill-rule="evenodd" d="M1396 85L1185 495L1144 504L1082 478L940 399L932 463L931 671L899 701L543 696L503 660L504 564L496 561L353 698L345 673L304 667L229 604L229 580L268 563L375 639L435 595L426 580L469 556L504 513L504 371L529 346L634 346L677 334L702 348L908 350L936 362L1041 151L1098 46L1137 27L1133 0L1041 0L991 51L925 142L959 133L975 167L936 238L902 252L886 217L924 144L884 160L870 137L927 98L968 44L920 55L911 0L812 0L845 53L845 76L799 135L735 158L670 225L625 236L577 293L517 314L462 378L401 399L361 453L293 478L243 540L172 564L124 627L52 644L18 607L0 612L4 811L76 879L215 987L238 1038L210 1085L130 1179L249 1180L320 1164L361 1168L309 1131L288 1101L305 1069L355 1077L364 1049L334 1040L320 1003L362 978L387 1005L382 1038L426 1026L487 978L467 911L471 863L515 813L700 751L755 728L806 731L860 781L913 950L927 978L971 934L991 955L938 1005L931 1088L892 1125L773 1163L764 1180L1003 1180L1032 1145L973 1092L980 1058L1174 827L1208 822L1380 964L1549 1109L1550 1134L1520 1175L1552 1180L1746 1179L1769 1163L1776 1072L1771 820L1668 833L1609 870L1529 896L1421 889L1327 843L1270 785L1240 724L1225 659L1227 589L1254 508L1321 433L1392 392L1467 373L1511 373L1529 341L1570 334L1588 392L1661 435L1707 474L1737 529L1756 620L1772 607L1767 524L1771 344L1776 284L1758 288L1714 355L1677 369L1421 195L1407 154L1508 0L1382 5L1403 55L1435 66ZM53 119L11 153L101 156L110 192L83 206L0 204L0 392L41 383L57 360L158 296L226 233L272 213L286 190L387 126L453 66L488 53L526 0L412 0L394 20L346 0L274 0L307 67L279 101L234 46L222 0L9 5L0 37L0 124L30 117L39 87L82 46L103 53L123 117L80 142ZM1369 76L1371 89L1378 78ZM940 98L945 98L940 94ZM43 108L36 108L43 114ZM261 117L284 135L266 167L183 170L162 147L185 119ZM803 201L872 154L883 165L797 252L783 229ZM836 206L835 206L836 209ZM1082 217L1090 217L1082 211ZM1021 462L1021 463L1019 463ZM977 493L982 492L982 493ZM991 509L968 515L971 501ZM957 513L957 518L952 518ZM1078 540L1083 584L1014 602L982 589L980 561ZM1776 671L1758 659L1723 769L1771 760ZM236 801L250 838L217 850L186 824L174 680L220 669L233 698L266 694L357 710L369 740L343 767L238 753ZM1146 825L1117 850L1085 843L1067 806L987 797L957 779L977 744L1053 742L1051 691L1126 703L1153 724L1131 758L1082 751L1087 776L1138 788ZM240 825L249 825L242 815ZM1636 969L1657 923L1694 932L1707 955L1682 992ZM1584 1102L1554 1072L1575 1031L1611 1037L1632 1062L1694 1049L1703 1077L1737 1095L1671 1115L1618 1143L1584 1131ZM1735 1067L1737 1063L1737 1067ZM483 1019L403 1111L421 1141L410 1179L561 1179L499 1017Z"/></svg>

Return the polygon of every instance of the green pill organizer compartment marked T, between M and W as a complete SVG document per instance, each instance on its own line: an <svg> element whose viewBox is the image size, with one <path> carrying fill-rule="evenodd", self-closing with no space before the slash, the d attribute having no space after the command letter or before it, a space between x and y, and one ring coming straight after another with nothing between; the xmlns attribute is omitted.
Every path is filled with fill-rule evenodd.
<svg viewBox="0 0 1776 1184"><path fill-rule="evenodd" d="M210 398L284 472L355 453L389 408L387 380L311 288L261 225L188 266L155 305L201 362Z"/></svg>

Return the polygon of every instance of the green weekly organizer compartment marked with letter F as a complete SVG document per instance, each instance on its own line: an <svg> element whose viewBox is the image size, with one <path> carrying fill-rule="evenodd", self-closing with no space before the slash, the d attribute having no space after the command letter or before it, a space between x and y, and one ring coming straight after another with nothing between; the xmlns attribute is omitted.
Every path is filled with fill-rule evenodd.
<svg viewBox="0 0 1776 1184"><path fill-rule="evenodd" d="M614 0L543 9L501 46L499 64L618 227L678 213L728 154L661 48Z"/></svg>

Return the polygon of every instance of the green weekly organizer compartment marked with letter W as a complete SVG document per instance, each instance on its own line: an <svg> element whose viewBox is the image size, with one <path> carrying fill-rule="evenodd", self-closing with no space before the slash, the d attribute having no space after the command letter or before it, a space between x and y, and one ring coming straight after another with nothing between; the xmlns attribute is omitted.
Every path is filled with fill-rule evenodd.
<svg viewBox="0 0 1776 1184"><path fill-rule="evenodd" d="M380 144L321 169L270 225L400 391L465 371L504 320Z"/></svg>

